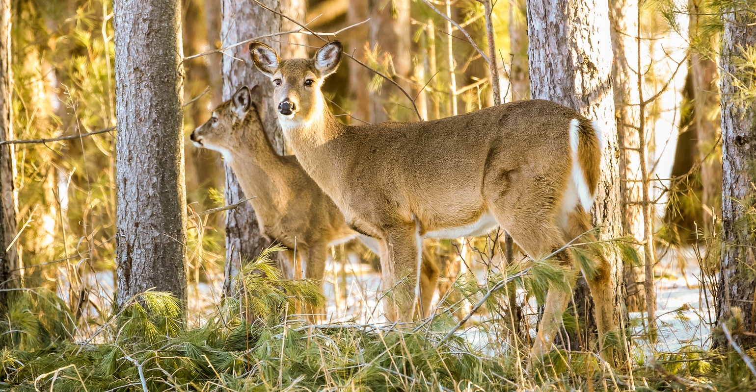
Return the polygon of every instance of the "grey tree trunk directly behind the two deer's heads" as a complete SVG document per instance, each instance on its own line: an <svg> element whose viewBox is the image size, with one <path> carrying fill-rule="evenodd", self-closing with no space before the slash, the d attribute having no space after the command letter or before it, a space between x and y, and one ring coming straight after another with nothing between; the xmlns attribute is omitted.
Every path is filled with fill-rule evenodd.
<svg viewBox="0 0 756 392"><path fill-rule="evenodd" d="M262 0L268 8L279 8L277 0ZM222 23L221 37L225 39L223 45L233 45L237 42L251 39L259 35L279 32L281 18L279 15L267 11L254 2L246 0L222 0ZM278 37L263 39L262 42L270 45L280 53L281 41ZM249 58L248 45L239 45L226 51L228 56L223 56L223 100L231 99L234 92L243 85L250 88L255 85L262 87L262 102L256 103L260 108L262 124L271 144L280 154L284 153L283 134L278 125L276 105L273 103L273 83L268 76L260 73ZM235 57L235 58L234 58ZM285 58L285 57L284 57ZM236 60L241 59L242 61ZM225 163L226 169L226 204L231 205L245 197L256 195L244 195L234 171ZM226 217L226 268L228 275L235 275L242 261L256 258L268 240L260 234L255 210L249 203L243 203L239 208L229 210ZM226 279L226 282L229 282ZM230 287L226 287L230 289ZM228 292L228 291L227 291Z"/></svg>

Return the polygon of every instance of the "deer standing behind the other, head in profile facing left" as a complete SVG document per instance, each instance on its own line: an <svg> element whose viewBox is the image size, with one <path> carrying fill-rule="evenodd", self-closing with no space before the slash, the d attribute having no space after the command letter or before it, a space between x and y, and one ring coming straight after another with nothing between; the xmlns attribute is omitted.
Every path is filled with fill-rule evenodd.
<svg viewBox="0 0 756 392"><path fill-rule="evenodd" d="M360 239L376 254L375 239L347 226L344 216L318 184L299 165L295 156L280 156L268 140L259 113L262 88L239 88L220 103L212 116L190 135L196 147L215 150L231 166L255 210L260 233L268 241L286 246L282 252L284 276L291 279L296 260L305 267L305 278L322 282L327 249ZM295 255L296 251L296 255ZM436 264L423 264L423 302L429 305L438 282Z"/></svg>

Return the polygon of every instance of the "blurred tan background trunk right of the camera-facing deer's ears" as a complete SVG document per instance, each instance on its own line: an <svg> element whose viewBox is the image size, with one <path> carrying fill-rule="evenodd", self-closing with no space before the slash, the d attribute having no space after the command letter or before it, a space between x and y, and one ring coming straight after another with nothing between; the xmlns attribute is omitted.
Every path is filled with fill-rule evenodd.
<svg viewBox="0 0 756 392"><path fill-rule="evenodd" d="M407 83L412 70L410 29L410 0L367 0L370 13L370 48L378 45L380 51L391 54L396 82L407 91ZM398 94L395 86L383 83L380 91L370 91L370 120L373 124L389 119L389 111L395 110L395 103L390 103L391 94ZM384 106L384 103L392 106ZM413 115L414 116L414 115Z"/></svg>

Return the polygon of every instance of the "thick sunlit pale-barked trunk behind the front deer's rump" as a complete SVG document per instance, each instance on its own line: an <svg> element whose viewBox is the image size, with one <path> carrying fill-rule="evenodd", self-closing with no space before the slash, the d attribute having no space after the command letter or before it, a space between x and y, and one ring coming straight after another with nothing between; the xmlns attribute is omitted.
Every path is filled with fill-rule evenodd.
<svg viewBox="0 0 756 392"><path fill-rule="evenodd" d="M585 12L585 10L591 10ZM609 26L609 4L595 0L559 0L528 2L528 60L531 95L553 100L578 110L598 122L606 147L601 162L601 177L596 201L593 203L593 224L602 224L600 239L621 236L621 199L619 146L615 125L614 92L612 89L612 42L606 32ZM622 265L618 255L606 253L612 264L612 301L616 325L623 307ZM575 292L578 326L593 332L596 325L593 303L584 279L578 280ZM571 306L572 307L572 306ZM571 347L594 346L595 338L571 336ZM595 334L588 334L593 337ZM586 344L586 342L588 344Z"/></svg>

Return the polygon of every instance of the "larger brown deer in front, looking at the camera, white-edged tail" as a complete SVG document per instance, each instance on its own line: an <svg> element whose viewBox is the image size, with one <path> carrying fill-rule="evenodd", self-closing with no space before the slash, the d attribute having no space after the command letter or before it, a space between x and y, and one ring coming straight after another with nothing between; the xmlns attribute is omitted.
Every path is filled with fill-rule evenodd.
<svg viewBox="0 0 756 392"><path fill-rule="evenodd" d="M533 259L553 255L575 270L567 245L592 236L590 208L600 178L603 137L596 122L549 100L521 100L420 122L345 125L322 91L336 72L342 44L327 42L311 58L282 60L262 42L253 63L274 84L274 104L287 144L302 168L358 233L379 240L383 285L392 289L388 319L411 322L419 301L423 238L479 236L507 230ZM615 329L611 262L590 257L584 275L596 304L600 352ZM531 363L551 350L569 291L551 284Z"/></svg>

